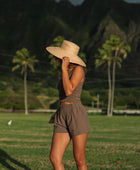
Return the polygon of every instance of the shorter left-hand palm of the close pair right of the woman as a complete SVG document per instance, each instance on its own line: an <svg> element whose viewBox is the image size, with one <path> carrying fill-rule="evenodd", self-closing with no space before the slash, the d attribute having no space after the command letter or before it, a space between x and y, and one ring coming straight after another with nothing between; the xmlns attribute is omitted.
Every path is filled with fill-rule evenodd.
<svg viewBox="0 0 140 170"><path fill-rule="evenodd" d="M99 48L98 49L99 55L96 55L97 59L95 60L95 66L96 68L106 64L107 63L107 67L108 67L108 107L107 107L107 115L110 116L110 108L111 108L111 62L112 62L112 57L111 57L111 52L112 52L112 48L111 46L108 44L108 42L106 41L103 45L102 45L102 49Z"/></svg>

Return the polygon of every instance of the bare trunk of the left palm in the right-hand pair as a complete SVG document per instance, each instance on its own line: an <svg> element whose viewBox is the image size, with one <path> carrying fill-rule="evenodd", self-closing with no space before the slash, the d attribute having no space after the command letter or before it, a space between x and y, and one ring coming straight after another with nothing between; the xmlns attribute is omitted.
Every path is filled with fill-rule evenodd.
<svg viewBox="0 0 140 170"><path fill-rule="evenodd" d="M110 115L110 107L111 107L111 73L110 73L110 66L111 66L111 61L108 61L108 108L107 108L107 116Z"/></svg>

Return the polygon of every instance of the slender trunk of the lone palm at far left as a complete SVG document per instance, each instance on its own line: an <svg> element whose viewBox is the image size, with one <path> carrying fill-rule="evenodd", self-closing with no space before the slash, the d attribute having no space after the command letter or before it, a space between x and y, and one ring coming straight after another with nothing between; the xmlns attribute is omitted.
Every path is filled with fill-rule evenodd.
<svg viewBox="0 0 140 170"><path fill-rule="evenodd" d="M25 104L25 114L28 114L28 102L27 102L27 64L25 64L24 73L24 104Z"/></svg>

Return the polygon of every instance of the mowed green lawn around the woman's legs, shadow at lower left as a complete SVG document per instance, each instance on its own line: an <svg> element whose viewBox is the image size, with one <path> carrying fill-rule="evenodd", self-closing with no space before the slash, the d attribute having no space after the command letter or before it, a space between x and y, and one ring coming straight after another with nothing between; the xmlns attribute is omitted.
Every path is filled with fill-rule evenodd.
<svg viewBox="0 0 140 170"><path fill-rule="evenodd" d="M53 169L49 161L50 116L0 114L0 169ZM89 119L88 169L140 169L140 117L90 114ZM64 165L66 170L76 170L72 142L64 154Z"/></svg>

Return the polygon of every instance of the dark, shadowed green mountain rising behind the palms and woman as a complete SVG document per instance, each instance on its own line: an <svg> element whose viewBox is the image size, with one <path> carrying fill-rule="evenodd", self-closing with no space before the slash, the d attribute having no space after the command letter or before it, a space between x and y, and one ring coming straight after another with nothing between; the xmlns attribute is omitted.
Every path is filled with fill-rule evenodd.
<svg viewBox="0 0 140 170"><path fill-rule="evenodd" d="M85 0L73 6L68 0L2 0L0 6L0 76L11 73L12 58L23 47L40 61L36 73L29 73L30 81L54 85L48 53L45 47L58 36L80 45L87 56L85 89L108 87L107 69L95 69L97 49L111 34L120 36L131 45L132 51L116 70L116 87L136 88L140 84L140 5L123 0ZM5 78L6 79L6 78ZM7 78L8 79L8 78Z"/></svg>

